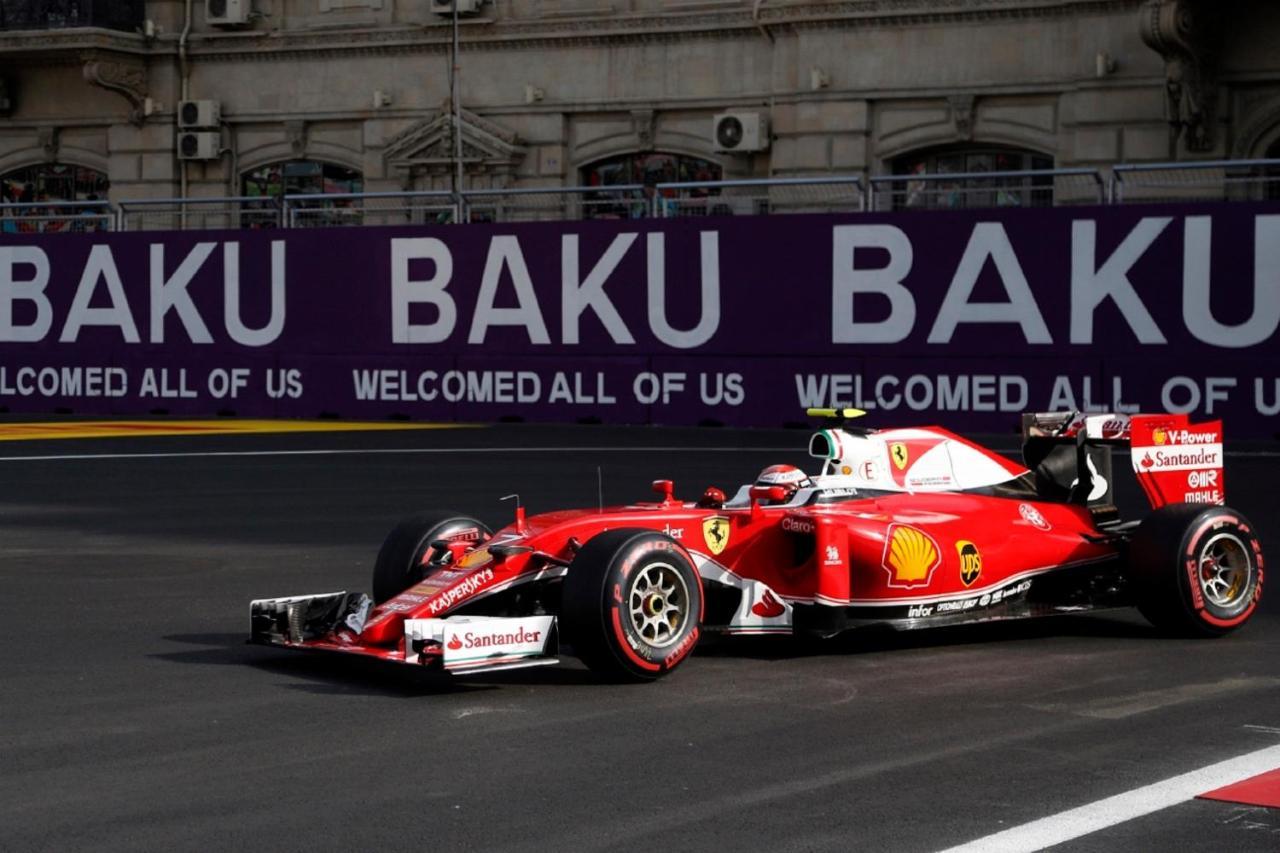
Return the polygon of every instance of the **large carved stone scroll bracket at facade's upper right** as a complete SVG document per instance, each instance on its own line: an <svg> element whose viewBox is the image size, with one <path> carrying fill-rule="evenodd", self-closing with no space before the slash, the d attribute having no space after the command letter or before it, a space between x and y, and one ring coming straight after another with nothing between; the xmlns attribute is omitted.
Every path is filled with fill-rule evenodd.
<svg viewBox="0 0 1280 853"><path fill-rule="evenodd" d="M1217 108L1216 15L1201 0L1148 0L1142 40L1165 60L1165 117L1174 142L1212 151Z"/></svg>

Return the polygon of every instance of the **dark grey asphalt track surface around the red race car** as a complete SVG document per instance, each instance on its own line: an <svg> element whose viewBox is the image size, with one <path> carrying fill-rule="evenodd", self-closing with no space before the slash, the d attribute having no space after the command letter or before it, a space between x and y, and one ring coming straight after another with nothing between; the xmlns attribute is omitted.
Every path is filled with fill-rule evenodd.
<svg viewBox="0 0 1280 853"><path fill-rule="evenodd" d="M937 850L1280 743L1277 590L1221 640L1126 611L744 638L649 685L573 661L448 681L244 644L251 598L367 588L410 511L590 506L596 466L611 502L657 476L694 496L800 462L805 438L4 443L0 848ZM1228 494L1280 555L1280 448L1258 450L1229 456ZM1280 849L1280 811L1190 800L1053 849L1175 848Z"/></svg>

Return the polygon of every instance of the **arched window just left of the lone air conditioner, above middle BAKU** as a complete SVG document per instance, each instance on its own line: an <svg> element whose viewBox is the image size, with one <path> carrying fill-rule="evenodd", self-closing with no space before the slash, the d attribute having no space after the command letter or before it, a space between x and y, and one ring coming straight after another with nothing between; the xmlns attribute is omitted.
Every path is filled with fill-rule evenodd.
<svg viewBox="0 0 1280 853"><path fill-rule="evenodd" d="M663 190L660 195L654 187L659 183L682 183L690 181L719 181L723 170L719 164L684 154L623 154L607 160L596 160L582 169L582 186L617 187L625 184L641 186L643 190L607 191L589 193L584 204L588 218L639 219L654 213L658 205L676 205L684 213L707 213L705 199L718 195L714 187L695 187L675 191Z"/></svg>

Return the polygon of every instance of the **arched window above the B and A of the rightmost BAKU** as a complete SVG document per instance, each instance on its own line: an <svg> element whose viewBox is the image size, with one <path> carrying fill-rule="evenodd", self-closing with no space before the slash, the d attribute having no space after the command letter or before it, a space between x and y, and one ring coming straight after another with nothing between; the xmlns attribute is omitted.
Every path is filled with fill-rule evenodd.
<svg viewBox="0 0 1280 853"><path fill-rule="evenodd" d="M989 172L1053 168L1053 158L1021 149L972 145L893 160L893 207L1042 207L1053 204L1053 177L984 178ZM925 178L923 175L956 175ZM916 179L911 179L916 177Z"/></svg>

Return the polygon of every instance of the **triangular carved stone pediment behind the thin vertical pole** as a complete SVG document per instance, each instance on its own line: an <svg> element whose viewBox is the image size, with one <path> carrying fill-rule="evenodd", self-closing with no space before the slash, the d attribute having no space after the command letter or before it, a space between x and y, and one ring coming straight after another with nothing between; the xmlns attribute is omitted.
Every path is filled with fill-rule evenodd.
<svg viewBox="0 0 1280 853"><path fill-rule="evenodd" d="M507 128L461 110L462 164L472 174L511 174L526 149ZM387 143L383 161L402 173L433 172L453 163L453 113L448 101L435 117L413 124Z"/></svg>

